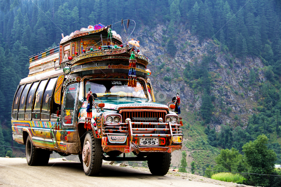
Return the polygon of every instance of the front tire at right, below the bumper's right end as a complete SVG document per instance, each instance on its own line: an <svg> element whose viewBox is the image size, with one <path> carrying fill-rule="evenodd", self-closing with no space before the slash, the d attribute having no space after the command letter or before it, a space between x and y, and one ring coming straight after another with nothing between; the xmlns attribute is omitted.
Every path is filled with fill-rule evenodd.
<svg viewBox="0 0 281 187"><path fill-rule="evenodd" d="M171 164L171 153L150 153L147 161L148 168L152 175L166 175Z"/></svg>

